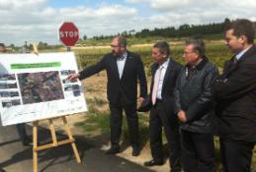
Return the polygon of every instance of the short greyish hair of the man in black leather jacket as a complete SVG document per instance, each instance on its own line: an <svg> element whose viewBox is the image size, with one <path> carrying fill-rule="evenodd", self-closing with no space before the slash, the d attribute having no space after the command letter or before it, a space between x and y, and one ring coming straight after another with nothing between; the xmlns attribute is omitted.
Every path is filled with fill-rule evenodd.
<svg viewBox="0 0 256 172"><path fill-rule="evenodd" d="M202 38L190 37L186 39L185 45L193 45L193 51L197 52L201 57L206 55L206 44Z"/></svg>

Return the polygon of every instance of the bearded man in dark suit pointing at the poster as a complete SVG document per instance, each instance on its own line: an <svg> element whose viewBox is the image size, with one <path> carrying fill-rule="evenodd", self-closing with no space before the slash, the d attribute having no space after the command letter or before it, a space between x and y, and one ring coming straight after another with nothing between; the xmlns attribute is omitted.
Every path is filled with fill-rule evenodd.
<svg viewBox="0 0 256 172"><path fill-rule="evenodd" d="M127 50L127 40L122 36L111 42L112 53L105 55L96 65L90 66L68 79L83 80L106 69L108 76L107 94L111 110L111 148L107 154L120 152L123 109L126 111L132 155L140 151L138 119L136 114L137 80L140 85L139 102L147 93L143 64L138 55Z"/></svg>

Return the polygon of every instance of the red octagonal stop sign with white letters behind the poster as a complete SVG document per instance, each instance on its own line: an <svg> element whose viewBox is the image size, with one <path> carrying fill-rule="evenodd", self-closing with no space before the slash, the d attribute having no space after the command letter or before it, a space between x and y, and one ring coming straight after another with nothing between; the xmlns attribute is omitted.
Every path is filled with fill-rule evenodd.
<svg viewBox="0 0 256 172"><path fill-rule="evenodd" d="M65 22L58 29L58 36L65 46L74 46L79 40L79 31L73 23Z"/></svg>

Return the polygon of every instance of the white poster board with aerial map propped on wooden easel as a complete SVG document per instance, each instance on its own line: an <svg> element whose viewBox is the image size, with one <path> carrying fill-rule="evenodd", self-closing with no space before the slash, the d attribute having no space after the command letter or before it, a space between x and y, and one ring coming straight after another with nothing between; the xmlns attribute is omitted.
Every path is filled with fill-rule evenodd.
<svg viewBox="0 0 256 172"><path fill-rule="evenodd" d="M73 52L0 54L2 125L32 122L87 111Z"/></svg>

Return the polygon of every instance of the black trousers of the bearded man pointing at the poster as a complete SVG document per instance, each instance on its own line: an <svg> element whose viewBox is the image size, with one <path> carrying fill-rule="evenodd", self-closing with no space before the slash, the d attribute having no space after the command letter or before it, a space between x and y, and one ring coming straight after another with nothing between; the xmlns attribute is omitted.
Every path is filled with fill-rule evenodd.
<svg viewBox="0 0 256 172"><path fill-rule="evenodd" d="M138 135L138 119L136 113L136 103L126 103L121 100L118 103L110 103L111 110L111 144L112 146L120 146L120 138L122 133L123 110L125 110L128 122L128 133L131 146L139 147Z"/></svg>

